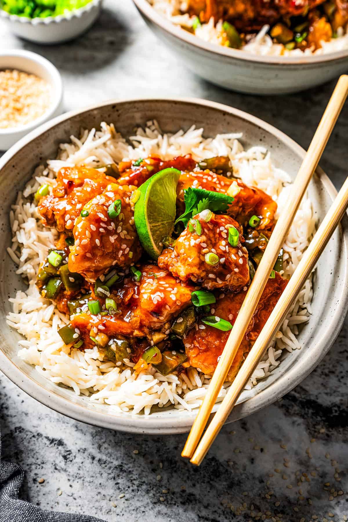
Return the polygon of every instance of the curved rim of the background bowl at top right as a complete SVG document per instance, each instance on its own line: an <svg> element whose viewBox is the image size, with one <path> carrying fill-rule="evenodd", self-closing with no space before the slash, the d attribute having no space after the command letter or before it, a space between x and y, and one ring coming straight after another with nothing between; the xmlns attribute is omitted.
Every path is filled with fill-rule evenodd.
<svg viewBox="0 0 348 522"><path fill-rule="evenodd" d="M206 51L210 54L219 54L224 58L235 58L237 60L243 60L245 62L258 62L267 64L270 66L274 65L314 65L322 62L334 62L344 60L348 57L348 48L341 51L334 51L326 54L312 54L303 56L268 56L247 53L246 51L239 49L226 48L223 45L217 45L211 42L206 42L196 37L194 34L184 31L179 26L175 26L169 19L157 13L154 8L149 4L148 0L133 0L134 4L142 15L149 18L155 25L169 32L173 37L185 42L186 44L193 45L199 51Z"/></svg>

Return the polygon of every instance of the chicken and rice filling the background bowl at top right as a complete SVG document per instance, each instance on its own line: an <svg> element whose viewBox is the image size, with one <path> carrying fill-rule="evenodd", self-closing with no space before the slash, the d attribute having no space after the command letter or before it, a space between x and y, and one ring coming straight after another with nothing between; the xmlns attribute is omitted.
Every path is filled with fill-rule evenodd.
<svg viewBox="0 0 348 522"><path fill-rule="evenodd" d="M160 14L207 42L261 55L348 49L344 0L149 0Z"/></svg>

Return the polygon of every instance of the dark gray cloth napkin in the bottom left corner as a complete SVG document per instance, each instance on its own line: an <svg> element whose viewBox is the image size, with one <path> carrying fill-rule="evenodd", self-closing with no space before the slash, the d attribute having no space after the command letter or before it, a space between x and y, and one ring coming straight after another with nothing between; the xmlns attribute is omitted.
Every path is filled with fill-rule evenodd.
<svg viewBox="0 0 348 522"><path fill-rule="evenodd" d="M105 522L86 515L46 511L18 499L23 478L20 466L1 459L0 438L0 522Z"/></svg>

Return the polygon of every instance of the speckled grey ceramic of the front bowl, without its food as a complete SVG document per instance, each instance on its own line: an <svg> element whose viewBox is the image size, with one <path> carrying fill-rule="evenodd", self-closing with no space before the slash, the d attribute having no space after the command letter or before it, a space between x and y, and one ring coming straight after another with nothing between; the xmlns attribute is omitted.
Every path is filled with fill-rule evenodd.
<svg viewBox="0 0 348 522"><path fill-rule="evenodd" d="M11 241L8 212L17 191L30 179L34 167L45 158L55 157L58 144L69 140L71 134L78 135L81 127L98 128L102 121L113 122L118 131L129 136L133 134L134 126L144 125L153 118L158 120L165 132L188 129L193 124L204 127L206 137L242 131L241 141L245 147L255 144L267 146L273 162L285 168L293 178L305 153L289 137L254 116L196 99L108 102L67 113L35 129L0 159L0 242L3 245L0 263L0 369L35 399L79 421L133 433L184 433L189 431L197 412L162 408L150 416L114 413L107 405L93 405L86 397L76 396L73 390L47 381L33 366L18 358L17 341L20 336L5 321L6 314L11 310L8 298L16 290L25 288L5 251ZM319 221L335 194L326 174L318 169L310 183L309 195ZM260 381L251 392L244 392L229 422L246 417L289 392L328 352L340 331L348 307L347 243L348 218L344 216L317 266L313 315L299 334L302 349L284 354L281 364L267 379Z"/></svg>

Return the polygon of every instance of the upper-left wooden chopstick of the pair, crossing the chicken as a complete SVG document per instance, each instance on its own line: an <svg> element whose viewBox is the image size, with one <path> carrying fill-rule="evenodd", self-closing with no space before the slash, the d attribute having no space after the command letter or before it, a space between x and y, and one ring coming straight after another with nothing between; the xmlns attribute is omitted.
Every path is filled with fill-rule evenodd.
<svg viewBox="0 0 348 522"><path fill-rule="evenodd" d="M227 339L225 348L221 354L218 365L211 378L208 392L201 404L197 417L193 423L191 431L187 437L185 447L182 452L183 457L191 458L194 454L199 439L208 422L211 410L215 404L221 386L226 380L235 354L242 342L248 324L253 317L256 306L261 297L262 291L266 286L267 280L275 263L285 237L290 229L295 213L301 199L306 192L308 183L315 171L327 141L331 135L334 124L341 112L344 101L348 93L348 76L343 75L339 78L333 91L327 108L321 118L317 131L311 141L306 156L299 168L298 174L292 185L292 195L287 200L277 223L275 224L265 253L256 270L253 281L245 296L245 300L239 310L230 336Z"/></svg>

